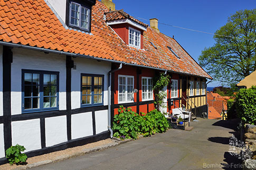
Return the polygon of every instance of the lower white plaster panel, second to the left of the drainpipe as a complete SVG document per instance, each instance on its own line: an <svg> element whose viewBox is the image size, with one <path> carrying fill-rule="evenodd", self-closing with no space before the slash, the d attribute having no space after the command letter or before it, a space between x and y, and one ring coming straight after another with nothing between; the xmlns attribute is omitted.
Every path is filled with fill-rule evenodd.
<svg viewBox="0 0 256 170"><path fill-rule="evenodd" d="M72 139L91 135L93 135L92 112L71 115Z"/></svg>

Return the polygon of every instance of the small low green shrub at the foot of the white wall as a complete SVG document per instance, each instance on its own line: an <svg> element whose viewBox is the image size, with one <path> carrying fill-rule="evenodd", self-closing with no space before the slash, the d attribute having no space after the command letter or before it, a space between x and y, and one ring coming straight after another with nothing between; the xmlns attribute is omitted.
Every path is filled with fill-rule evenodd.
<svg viewBox="0 0 256 170"><path fill-rule="evenodd" d="M14 163L16 165L22 164L26 162L27 155L22 154L21 152L25 151L25 147L16 144L15 146L9 147L6 152L6 158L8 159L10 165L13 165Z"/></svg>

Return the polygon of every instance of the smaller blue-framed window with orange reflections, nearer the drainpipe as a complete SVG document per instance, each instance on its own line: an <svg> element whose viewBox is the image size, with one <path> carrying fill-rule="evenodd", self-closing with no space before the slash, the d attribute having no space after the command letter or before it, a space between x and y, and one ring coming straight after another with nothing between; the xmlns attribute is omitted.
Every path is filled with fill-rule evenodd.
<svg viewBox="0 0 256 170"><path fill-rule="evenodd" d="M81 74L81 107L103 105L104 75Z"/></svg>

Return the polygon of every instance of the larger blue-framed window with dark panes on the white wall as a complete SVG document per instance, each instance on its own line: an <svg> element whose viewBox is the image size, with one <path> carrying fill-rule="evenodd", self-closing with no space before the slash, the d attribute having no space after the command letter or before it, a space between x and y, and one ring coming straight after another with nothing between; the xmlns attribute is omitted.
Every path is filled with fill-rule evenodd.
<svg viewBox="0 0 256 170"><path fill-rule="evenodd" d="M22 69L22 113L59 109L59 72Z"/></svg>

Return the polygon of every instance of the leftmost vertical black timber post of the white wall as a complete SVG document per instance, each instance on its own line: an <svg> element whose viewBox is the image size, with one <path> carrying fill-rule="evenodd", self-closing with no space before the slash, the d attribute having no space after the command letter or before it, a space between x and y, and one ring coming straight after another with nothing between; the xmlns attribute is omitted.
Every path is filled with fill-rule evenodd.
<svg viewBox="0 0 256 170"><path fill-rule="evenodd" d="M3 46L3 123L4 149L12 146L11 126L11 66L13 62L12 49Z"/></svg>

